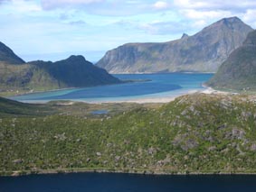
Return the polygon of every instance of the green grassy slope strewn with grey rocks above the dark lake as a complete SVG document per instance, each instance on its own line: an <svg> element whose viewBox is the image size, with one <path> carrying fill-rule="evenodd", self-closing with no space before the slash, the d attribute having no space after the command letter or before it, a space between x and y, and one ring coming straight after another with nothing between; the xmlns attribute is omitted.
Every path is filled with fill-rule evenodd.
<svg viewBox="0 0 256 192"><path fill-rule="evenodd" d="M255 173L254 100L192 95L100 118L1 118L0 169Z"/></svg>

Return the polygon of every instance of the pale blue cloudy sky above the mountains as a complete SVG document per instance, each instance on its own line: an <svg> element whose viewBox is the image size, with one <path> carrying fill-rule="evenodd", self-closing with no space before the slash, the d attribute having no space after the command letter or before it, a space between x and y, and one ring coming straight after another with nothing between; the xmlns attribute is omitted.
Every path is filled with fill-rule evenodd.
<svg viewBox="0 0 256 192"><path fill-rule="evenodd" d="M0 41L26 61L96 62L128 42L193 35L224 17L256 28L255 0L0 0Z"/></svg>

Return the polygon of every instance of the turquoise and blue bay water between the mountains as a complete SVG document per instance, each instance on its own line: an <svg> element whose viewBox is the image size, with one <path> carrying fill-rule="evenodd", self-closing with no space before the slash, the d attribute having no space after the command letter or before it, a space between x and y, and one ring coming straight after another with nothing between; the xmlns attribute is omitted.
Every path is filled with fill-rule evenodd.
<svg viewBox="0 0 256 192"><path fill-rule="evenodd" d="M74 100L93 103L181 96L191 90L203 90L202 84L212 76L213 74L186 73L115 75L115 77L123 80L150 79L150 81L101 87L71 88L10 98L37 103L51 100Z"/></svg>

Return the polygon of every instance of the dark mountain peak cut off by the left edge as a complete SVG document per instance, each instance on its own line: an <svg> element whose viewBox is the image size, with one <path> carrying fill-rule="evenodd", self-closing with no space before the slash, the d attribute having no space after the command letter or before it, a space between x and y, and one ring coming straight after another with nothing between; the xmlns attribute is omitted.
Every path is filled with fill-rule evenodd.
<svg viewBox="0 0 256 192"><path fill-rule="evenodd" d="M0 63L24 64L24 60L15 55L14 51L0 42Z"/></svg>

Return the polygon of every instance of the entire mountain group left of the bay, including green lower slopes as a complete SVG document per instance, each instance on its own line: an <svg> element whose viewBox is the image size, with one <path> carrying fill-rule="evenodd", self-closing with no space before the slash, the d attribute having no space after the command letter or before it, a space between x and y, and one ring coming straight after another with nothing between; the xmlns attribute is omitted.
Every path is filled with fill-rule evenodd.
<svg viewBox="0 0 256 192"><path fill-rule="evenodd" d="M0 93L46 91L66 87L92 87L121 83L82 56L57 62L37 60L25 63L0 42Z"/></svg>

